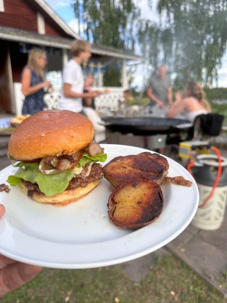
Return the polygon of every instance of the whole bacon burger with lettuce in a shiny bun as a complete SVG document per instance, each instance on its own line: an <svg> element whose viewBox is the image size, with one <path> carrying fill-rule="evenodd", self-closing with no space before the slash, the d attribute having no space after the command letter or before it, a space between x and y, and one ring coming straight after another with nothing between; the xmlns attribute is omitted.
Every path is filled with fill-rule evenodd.
<svg viewBox="0 0 227 303"><path fill-rule="evenodd" d="M93 137L93 124L75 112L47 110L28 117L9 140L8 156L18 170L7 182L41 203L83 197L100 182L104 173L98 162L107 159Z"/></svg>

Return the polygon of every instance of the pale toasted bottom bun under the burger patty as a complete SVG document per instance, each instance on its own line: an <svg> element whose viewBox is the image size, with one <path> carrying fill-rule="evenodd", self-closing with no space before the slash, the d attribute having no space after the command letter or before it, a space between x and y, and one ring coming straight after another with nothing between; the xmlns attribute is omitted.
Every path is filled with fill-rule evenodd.
<svg viewBox="0 0 227 303"><path fill-rule="evenodd" d="M95 181L91 181L90 183L88 183L88 185L86 187L77 187L77 188L72 188L72 189L67 189L65 191L63 191L62 193L53 195L53 196L47 196L43 193L38 194L36 191L32 192L32 198L33 200L40 202L40 203L46 203L46 204L58 204L58 205L64 205L64 204L69 204L71 202L76 201L77 199L83 197L84 195L86 195L87 193L89 193L89 191L91 191L93 188L95 188L100 180L95 180ZM21 183L21 188L24 191L25 195L27 196L28 194L28 189L26 188L26 186Z"/></svg>

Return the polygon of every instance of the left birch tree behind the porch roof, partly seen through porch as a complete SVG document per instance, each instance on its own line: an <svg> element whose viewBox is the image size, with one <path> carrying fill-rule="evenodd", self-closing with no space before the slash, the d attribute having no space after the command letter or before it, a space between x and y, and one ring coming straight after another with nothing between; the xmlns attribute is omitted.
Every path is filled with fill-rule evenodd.
<svg viewBox="0 0 227 303"><path fill-rule="evenodd" d="M134 50L133 22L140 9L133 0L74 0L76 18L84 27L85 37L94 44ZM104 73L104 86L120 86L120 69L108 66Z"/></svg>

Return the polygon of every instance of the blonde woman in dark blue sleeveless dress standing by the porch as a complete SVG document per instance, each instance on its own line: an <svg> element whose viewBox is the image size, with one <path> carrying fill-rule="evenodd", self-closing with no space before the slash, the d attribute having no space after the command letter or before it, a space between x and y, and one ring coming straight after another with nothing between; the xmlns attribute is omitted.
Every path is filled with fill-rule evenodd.
<svg viewBox="0 0 227 303"><path fill-rule="evenodd" d="M25 100L22 115L33 115L44 109L44 87L50 87L49 81L43 80L47 55L44 50L33 48L28 56L28 63L22 73L22 93Z"/></svg>

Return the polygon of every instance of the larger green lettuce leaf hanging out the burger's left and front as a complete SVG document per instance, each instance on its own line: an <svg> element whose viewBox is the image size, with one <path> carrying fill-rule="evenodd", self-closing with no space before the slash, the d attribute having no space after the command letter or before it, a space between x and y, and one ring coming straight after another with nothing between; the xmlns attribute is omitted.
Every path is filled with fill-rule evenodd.
<svg viewBox="0 0 227 303"><path fill-rule="evenodd" d="M63 192L69 185L69 181L73 178L74 169L67 169L53 175L43 175L38 170L39 164L19 162L14 165L19 167L14 176L9 176L7 182L10 185L18 185L21 183L21 179L30 181L31 183L37 183L41 192L47 196L53 196L55 194Z"/></svg>

